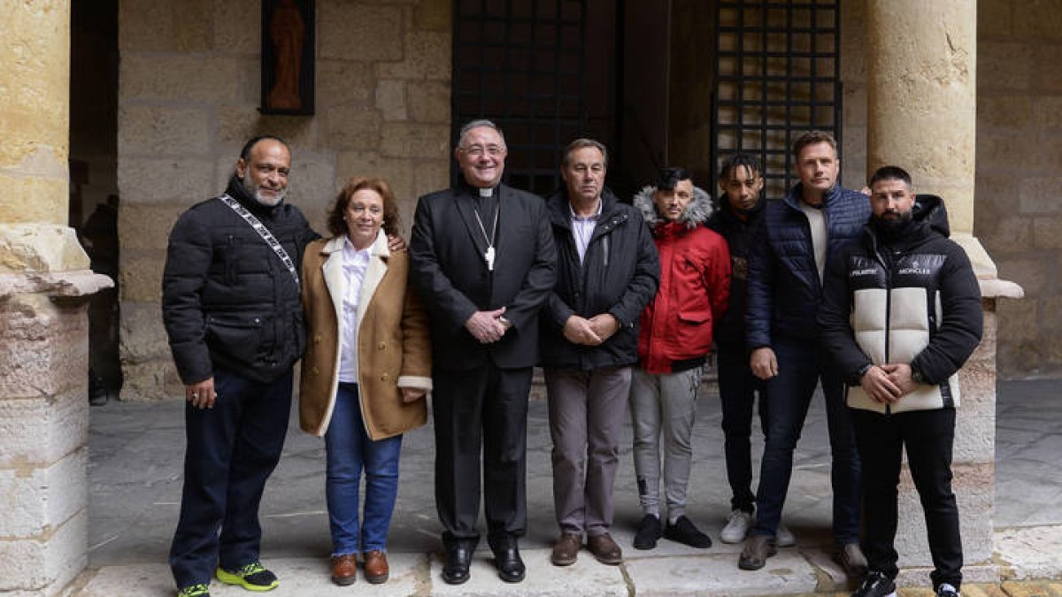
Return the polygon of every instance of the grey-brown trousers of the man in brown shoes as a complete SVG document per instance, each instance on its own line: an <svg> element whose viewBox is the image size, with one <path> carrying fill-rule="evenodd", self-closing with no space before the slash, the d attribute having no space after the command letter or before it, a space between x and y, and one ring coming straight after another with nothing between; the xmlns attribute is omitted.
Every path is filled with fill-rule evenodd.
<svg viewBox="0 0 1062 597"><path fill-rule="evenodd" d="M545 373L556 522L562 532L604 534L612 527L612 489L631 368Z"/></svg>

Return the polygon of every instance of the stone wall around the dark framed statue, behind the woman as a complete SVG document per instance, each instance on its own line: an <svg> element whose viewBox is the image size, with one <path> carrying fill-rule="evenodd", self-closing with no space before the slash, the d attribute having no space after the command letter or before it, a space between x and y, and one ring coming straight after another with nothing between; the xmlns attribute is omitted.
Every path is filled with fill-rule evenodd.
<svg viewBox="0 0 1062 597"><path fill-rule="evenodd" d="M391 183L407 237L416 197L448 183L448 1L318 0L316 114L298 117L257 110L260 6L120 3L124 399L179 394L159 315L167 237L182 211L224 188L249 137L291 143L290 201L319 231L353 175Z"/></svg>

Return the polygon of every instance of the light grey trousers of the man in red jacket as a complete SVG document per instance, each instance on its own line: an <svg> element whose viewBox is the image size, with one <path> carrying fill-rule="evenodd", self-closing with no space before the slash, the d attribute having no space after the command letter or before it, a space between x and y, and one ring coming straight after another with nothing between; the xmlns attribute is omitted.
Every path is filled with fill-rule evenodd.
<svg viewBox="0 0 1062 597"><path fill-rule="evenodd" d="M634 472L638 501L646 514L660 516L661 434L664 436L664 494L668 518L686 510L686 485L693 450L690 436L697 414L701 368L660 375L634 370L631 423L634 428Z"/></svg>

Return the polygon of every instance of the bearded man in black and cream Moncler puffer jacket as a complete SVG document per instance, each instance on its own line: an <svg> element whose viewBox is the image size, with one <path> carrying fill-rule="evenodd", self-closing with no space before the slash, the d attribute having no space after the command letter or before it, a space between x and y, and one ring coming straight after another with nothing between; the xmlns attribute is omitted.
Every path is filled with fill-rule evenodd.
<svg viewBox="0 0 1062 597"><path fill-rule="evenodd" d="M896 487L902 447L925 510L938 596L962 583L952 492L958 371L980 342L980 290L965 252L947 238L944 202L915 198L903 169L870 180L873 216L860 242L826 268L822 342L847 381L862 465L870 573L858 597L895 593Z"/></svg>

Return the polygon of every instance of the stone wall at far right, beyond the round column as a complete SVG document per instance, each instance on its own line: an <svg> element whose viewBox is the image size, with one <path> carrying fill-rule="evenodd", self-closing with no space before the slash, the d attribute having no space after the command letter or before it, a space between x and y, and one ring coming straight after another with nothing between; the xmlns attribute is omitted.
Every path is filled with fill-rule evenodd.
<svg viewBox="0 0 1062 597"><path fill-rule="evenodd" d="M1062 1L981 0L974 234L999 277L999 376L1062 374Z"/></svg>

